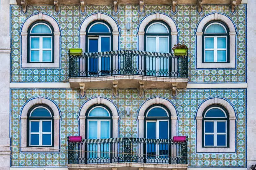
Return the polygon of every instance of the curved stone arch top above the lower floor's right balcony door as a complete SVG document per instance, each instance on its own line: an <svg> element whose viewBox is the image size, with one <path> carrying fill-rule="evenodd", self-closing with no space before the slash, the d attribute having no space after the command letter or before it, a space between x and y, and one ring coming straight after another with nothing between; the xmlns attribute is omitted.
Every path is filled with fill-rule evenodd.
<svg viewBox="0 0 256 170"><path fill-rule="evenodd" d="M175 117L177 119L178 114L177 114L177 111L176 111L174 105L172 104L172 102L170 102L169 100L162 98L162 97L154 97L149 100L146 100L146 102L144 102L141 105L141 108L138 110L138 117L144 117L146 109L154 104L162 104L162 105L166 106L169 109L169 111L171 112L171 115L169 115L169 116L171 116L173 118Z"/></svg>

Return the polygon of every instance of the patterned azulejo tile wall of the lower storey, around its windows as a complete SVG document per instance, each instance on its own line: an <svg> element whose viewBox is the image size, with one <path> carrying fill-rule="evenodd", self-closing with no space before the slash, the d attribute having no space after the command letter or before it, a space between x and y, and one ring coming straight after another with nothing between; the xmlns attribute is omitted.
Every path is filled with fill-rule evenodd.
<svg viewBox="0 0 256 170"><path fill-rule="evenodd" d="M178 112L178 135L188 136L188 156L191 167L245 167L246 162L246 90L245 89L190 89L178 90L176 98L170 90L146 90L143 98L137 90L119 90L113 97L112 90L87 90L81 98L79 90L71 89L11 89L10 117L11 144L20 146L20 111L24 103L39 95L53 100L61 111L61 149L67 149L67 136L79 135L78 114L82 104L91 97L102 96L113 101L120 112L119 136L137 137L138 108L148 98L160 96L170 100ZM200 103L210 97L223 97L236 111L236 153L197 154L195 152L195 113ZM124 114L130 107L130 116ZM67 152L61 153L20 153L19 148L11 149L11 166L66 166Z"/></svg>

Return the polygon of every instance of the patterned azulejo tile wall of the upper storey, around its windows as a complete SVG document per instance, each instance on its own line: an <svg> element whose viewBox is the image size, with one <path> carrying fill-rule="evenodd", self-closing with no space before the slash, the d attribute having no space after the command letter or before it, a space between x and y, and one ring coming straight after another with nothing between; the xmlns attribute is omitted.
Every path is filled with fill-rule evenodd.
<svg viewBox="0 0 256 170"><path fill-rule="evenodd" d="M68 50L79 47L78 30L82 20L92 13L102 12L111 15L120 27L120 49L137 49L137 28L143 17L160 12L170 15L177 23L179 43L189 47L189 82L246 82L246 5L238 5L234 14L228 5L204 5L201 14L195 5L178 5L177 13L171 13L170 6L146 5L144 13L138 13L136 5L118 6L113 13L112 6L86 7L80 13L79 6L61 6L60 12L54 6L28 6L24 14L18 5L11 6L11 82L67 82ZM47 13L54 17L61 28L61 69L21 69L20 68L20 28L26 18L35 13ZM199 20L208 13L223 13L233 20L237 28L236 69L197 70L195 67L195 29ZM125 29L131 23L131 30Z"/></svg>

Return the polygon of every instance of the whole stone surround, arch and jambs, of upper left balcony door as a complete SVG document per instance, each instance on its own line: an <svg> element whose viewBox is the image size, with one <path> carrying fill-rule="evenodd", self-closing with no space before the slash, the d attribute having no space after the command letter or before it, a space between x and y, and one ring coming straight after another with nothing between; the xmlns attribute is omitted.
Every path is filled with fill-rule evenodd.
<svg viewBox="0 0 256 170"><path fill-rule="evenodd" d="M119 49L119 41L118 41L118 36L119 36L119 30L118 30L118 25L115 22L113 18L111 18L109 15L103 14L103 13L95 13L92 15L89 15L81 24L80 30L79 30L79 35L80 35L80 48L82 48L83 52L85 52L85 47L86 47L86 28L87 26L95 20L104 20L107 23L110 24L111 28L113 29L112 35L113 35L113 50L118 50Z"/></svg>

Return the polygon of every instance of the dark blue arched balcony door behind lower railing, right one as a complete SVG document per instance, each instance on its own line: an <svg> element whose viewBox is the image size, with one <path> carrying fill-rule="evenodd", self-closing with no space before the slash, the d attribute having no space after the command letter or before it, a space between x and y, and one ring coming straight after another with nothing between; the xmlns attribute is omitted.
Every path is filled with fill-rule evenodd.
<svg viewBox="0 0 256 170"><path fill-rule="evenodd" d="M144 137L147 139L169 139L170 113L164 105L151 105L145 112L145 131ZM147 144L147 155L168 155L167 144ZM155 156L152 156L152 159Z"/></svg>

